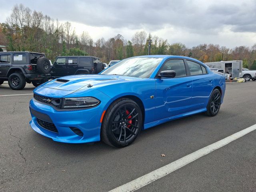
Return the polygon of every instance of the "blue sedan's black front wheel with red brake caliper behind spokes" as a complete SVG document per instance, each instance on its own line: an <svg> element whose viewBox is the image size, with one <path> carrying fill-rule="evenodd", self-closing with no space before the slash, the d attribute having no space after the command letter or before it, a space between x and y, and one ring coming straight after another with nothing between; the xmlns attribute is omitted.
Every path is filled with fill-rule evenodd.
<svg viewBox="0 0 256 192"><path fill-rule="evenodd" d="M126 147L140 134L142 122L138 104L128 98L120 98L106 110L101 125L101 140L110 146Z"/></svg>

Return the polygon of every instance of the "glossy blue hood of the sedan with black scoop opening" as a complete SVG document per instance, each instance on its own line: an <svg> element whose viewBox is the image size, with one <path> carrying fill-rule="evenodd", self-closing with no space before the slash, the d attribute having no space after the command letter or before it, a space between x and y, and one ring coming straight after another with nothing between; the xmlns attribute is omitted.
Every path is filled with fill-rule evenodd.
<svg viewBox="0 0 256 192"><path fill-rule="evenodd" d="M142 79L142 78L140 78ZM43 84L43 87L52 88L57 90L66 90L66 91L77 91L86 88L96 88L101 86L106 86L108 84L134 81L138 80L135 77L127 76L118 76L118 75L73 75L65 76L52 80L46 84Z"/></svg>

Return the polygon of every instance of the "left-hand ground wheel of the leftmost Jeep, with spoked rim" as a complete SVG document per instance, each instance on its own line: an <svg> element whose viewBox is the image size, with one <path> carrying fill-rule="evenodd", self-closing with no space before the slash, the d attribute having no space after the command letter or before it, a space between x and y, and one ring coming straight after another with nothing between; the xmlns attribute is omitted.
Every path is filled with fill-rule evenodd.
<svg viewBox="0 0 256 192"><path fill-rule="evenodd" d="M23 74L13 73L8 77L8 84L13 90L22 90L26 86L26 79Z"/></svg>

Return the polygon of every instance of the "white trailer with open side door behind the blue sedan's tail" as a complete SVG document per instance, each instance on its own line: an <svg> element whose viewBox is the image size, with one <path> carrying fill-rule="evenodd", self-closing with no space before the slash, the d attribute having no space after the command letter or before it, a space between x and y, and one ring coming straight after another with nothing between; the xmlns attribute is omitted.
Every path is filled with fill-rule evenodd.
<svg viewBox="0 0 256 192"><path fill-rule="evenodd" d="M222 69L224 74L227 72L232 74L232 78L240 78L242 76L243 61L241 60L209 62L205 64L210 68Z"/></svg>

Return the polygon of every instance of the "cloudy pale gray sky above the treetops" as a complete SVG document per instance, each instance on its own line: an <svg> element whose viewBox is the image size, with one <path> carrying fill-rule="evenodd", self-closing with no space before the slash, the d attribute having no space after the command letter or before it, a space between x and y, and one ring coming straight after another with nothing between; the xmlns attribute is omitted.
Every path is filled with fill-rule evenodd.
<svg viewBox="0 0 256 192"><path fill-rule="evenodd" d="M45 0L40 5L34 0L3 0L0 12L10 13L16 3L58 20L109 27L113 31L143 28L154 33L171 27L199 34L206 40L218 39L218 34L227 28L231 32L253 32L254 36L256 32L255 0ZM0 22L4 21L0 18Z"/></svg>

